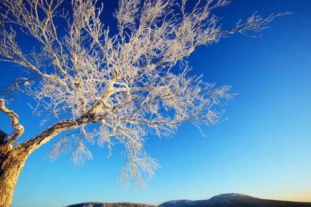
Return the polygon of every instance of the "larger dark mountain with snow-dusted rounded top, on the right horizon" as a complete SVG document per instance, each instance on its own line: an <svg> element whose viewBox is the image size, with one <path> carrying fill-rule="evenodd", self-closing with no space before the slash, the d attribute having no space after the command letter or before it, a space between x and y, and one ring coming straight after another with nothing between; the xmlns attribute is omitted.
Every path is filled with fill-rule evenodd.
<svg viewBox="0 0 311 207"><path fill-rule="evenodd" d="M239 193L225 193L208 200L168 201L159 207L311 207L311 203L267 200Z"/></svg>

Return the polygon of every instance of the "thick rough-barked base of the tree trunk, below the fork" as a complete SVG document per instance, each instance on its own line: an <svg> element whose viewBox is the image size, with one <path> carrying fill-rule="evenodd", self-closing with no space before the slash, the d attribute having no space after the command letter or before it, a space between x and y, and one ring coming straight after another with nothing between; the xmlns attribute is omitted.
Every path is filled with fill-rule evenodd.
<svg viewBox="0 0 311 207"><path fill-rule="evenodd" d="M10 207L17 178L30 152L0 146L0 207Z"/></svg>

